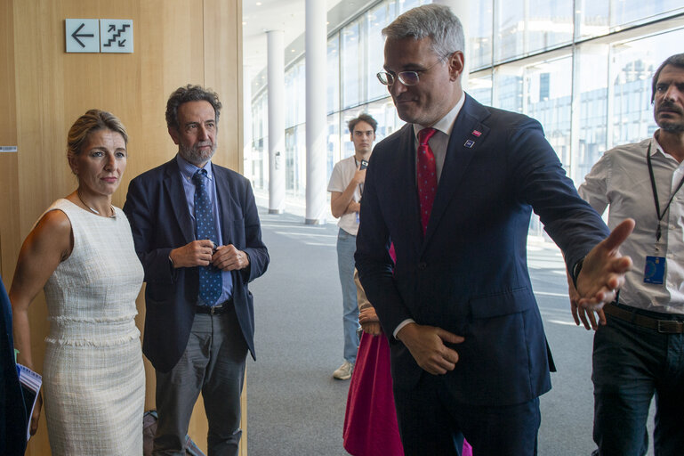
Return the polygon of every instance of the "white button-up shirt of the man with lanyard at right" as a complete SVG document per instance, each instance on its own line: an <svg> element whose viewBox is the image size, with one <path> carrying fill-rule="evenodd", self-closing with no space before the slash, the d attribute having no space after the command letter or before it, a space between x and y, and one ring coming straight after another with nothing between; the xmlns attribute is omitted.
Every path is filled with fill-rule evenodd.
<svg viewBox="0 0 684 456"><path fill-rule="evenodd" d="M631 256L634 264L620 289L620 303L654 312L684 314L684 188L674 194L664 213L661 238L656 242L658 217L646 159L649 145L659 211L663 215L684 177L684 163L663 151L655 136L604 153L578 191L600 214L609 207L611 230L625 218L636 221L634 232L620 247L620 252ZM666 258L663 284L644 283L647 256Z"/></svg>

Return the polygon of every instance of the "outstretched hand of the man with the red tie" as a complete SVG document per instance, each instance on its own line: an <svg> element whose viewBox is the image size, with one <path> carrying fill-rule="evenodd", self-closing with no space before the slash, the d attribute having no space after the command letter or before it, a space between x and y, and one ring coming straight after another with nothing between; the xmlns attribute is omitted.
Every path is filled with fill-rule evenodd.
<svg viewBox="0 0 684 456"><path fill-rule="evenodd" d="M584 257L577 277L577 305L588 311L598 311L616 298L624 283L624 274L632 268L632 258L622 256L619 248L634 230L634 220L628 218Z"/></svg>

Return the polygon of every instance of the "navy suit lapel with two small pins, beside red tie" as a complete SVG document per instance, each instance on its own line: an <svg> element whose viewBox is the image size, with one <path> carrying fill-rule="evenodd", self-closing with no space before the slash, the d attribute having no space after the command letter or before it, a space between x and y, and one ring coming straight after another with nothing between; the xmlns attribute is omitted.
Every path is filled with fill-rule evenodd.
<svg viewBox="0 0 684 456"><path fill-rule="evenodd" d="M435 195L428 230L422 244L423 249L437 229L449 202L454 198L455 191L463 181L463 175L467 172L471 159L479 151L479 145L489 134L489 127L481 123L489 116L489 111L473 100L470 95L466 94L465 97L463 108L456 117L449 137L447 156L439 177L437 195Z"/></svg>

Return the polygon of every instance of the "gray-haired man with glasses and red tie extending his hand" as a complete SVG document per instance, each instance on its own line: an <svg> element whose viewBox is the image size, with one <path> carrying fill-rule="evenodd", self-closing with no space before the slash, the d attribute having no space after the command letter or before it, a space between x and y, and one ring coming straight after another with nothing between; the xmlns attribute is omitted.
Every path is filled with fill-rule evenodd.
<svg viewBox="0 0 684 456"><path fill-rule="evenodd" d="M408 124L374 148L356 261L390 338L404 450L460 454L465 436L478 455L535 454L551 380L527 273L531 211L591 308L624 281L631 260L617 247L633 222L603 240L539 123L463 93L463 28L448 7L415 8L382 33L378 78Z"/></svg>

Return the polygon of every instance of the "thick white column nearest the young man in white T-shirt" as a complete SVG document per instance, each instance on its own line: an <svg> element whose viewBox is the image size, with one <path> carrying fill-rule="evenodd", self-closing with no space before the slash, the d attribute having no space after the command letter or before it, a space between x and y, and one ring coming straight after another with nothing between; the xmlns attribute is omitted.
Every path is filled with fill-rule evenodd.
<svg viewBox="0 0 684 456"><path fill-rule="evenodd" d="M326 223L326 2L306 0L306 218Z"/></svg>

